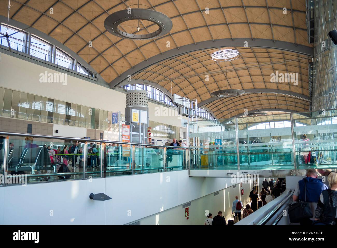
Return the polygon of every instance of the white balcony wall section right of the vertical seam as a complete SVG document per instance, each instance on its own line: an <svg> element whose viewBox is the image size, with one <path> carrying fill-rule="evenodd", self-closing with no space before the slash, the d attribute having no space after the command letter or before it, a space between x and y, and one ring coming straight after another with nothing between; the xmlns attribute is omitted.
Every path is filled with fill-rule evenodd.
<svg viewBox="0 0 337 248"><path fill-rule="evenodd" d="M106 194L112 195L113 200L106 202L105 223L125 224L139 220L236 184L231 180L188 177L188 171L106 178ZM243 186L246 187L245 184ZM250 185L247 187L250 188ZM240 195L240 187L235 190ZM229 199L230 210L226 206L226 214L232 211L233 200ZM128 215L130 212L131 215Z"/></svg>

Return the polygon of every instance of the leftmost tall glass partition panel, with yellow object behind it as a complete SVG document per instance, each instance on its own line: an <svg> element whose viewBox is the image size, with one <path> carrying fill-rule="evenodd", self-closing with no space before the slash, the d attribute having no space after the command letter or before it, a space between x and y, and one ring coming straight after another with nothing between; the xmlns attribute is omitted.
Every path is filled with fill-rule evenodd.
<svg viewBox="0 0 337 248"><path fill-rule="evenodd" d="M235 118L189 122L190 168L238 169Z"/></svg>

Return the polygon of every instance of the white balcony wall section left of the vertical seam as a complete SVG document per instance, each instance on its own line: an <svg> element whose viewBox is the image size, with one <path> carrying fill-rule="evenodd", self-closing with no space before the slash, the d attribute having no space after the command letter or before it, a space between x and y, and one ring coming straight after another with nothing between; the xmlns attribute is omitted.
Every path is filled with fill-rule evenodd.
<svg viewBox="0 0 337 248"><path fill-rule="evenodd" d="M89 199L101 192L103 178L0 187L0 224L102 225L104 202Z"/></svg>

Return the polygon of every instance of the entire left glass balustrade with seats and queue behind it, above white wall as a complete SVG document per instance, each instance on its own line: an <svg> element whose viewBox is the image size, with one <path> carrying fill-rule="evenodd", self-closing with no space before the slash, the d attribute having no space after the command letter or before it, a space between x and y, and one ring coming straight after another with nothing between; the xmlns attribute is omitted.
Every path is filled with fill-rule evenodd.
<svg viewBox="0 0 337 248"><path fill-rule="evenodd" d="M8 141L0 138L1 172L5 168L6 180L22 176L25 184L176 171L188 166L187 148L67 138L65 142L57 136L2 133L11 136ZM7 166L3 149L6 146Z"/></svg>

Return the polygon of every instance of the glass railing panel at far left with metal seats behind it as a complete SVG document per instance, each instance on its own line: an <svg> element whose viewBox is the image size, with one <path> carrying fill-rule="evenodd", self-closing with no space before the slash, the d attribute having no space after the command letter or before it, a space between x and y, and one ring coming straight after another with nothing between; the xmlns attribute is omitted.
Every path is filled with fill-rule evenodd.
<svg viewBox="0 0 337 248"><path fill-rule="evenodd" d="M10 137L9 143L7 180L12 180L11 184L83 178L80 160L74 159L75 155L69 150L71 144L63 140ZM79 144L78 147L83 150L83 146ZM79 153L76 156L81 157ZM24 182L17 181L18 178Z"/></svg>

